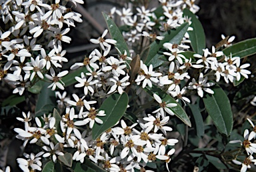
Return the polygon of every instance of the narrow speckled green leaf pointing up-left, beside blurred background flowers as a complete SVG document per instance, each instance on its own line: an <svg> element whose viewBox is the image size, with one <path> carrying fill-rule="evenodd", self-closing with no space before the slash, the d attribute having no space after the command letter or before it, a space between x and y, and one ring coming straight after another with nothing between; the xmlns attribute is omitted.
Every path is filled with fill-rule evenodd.
<svg viewBox="0 0 256 172"><path fill-rule="evenodd" d="M119 31L119 28L117 27L117 25L115 25L115 22L106 13L102 13L102 15L107 23L107 27L109 28L109 33L111 35L111 38L115 39L115 41L117 41L117 43L115 44L115 47L117 49L119 49L119 51L121 52L122 55L126 51L127 56L131 57L130 53L129 53L129 49L125 42L125 39L123 39L123 35Z"/></svg>

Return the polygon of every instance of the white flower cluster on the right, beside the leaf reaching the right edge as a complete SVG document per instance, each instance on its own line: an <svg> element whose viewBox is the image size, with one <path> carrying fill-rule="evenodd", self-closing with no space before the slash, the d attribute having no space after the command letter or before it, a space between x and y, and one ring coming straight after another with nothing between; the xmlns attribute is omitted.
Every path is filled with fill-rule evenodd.
<svg viewBox="0 0 256 172"><path fill-rule="evenodd" d="M189 48L183 43L181 45L164 43L163 47L167 49L167 52L163 52L163 54L167 55L171 64L169 65L169 71L163 73L160 77L159 83L160 85L168 85L168 91L173 97L177 97L181 92L182 95L185 89L197 89L200 97L203 97L203 91L213 94L209 87L215 85L215 83L207 83L209 76L217 82L223 77L226 83L233 83L239 81L241 76L247 79L248 75L251 74L251 71L245 69L250 66L249 63L240 65L240 57L232 57L232 54L228 57L222 51L216 51L214 46L212 46L212 52L209 52L209 49L203 49L203 55L194 54L189 59L182 54L185 52L184 50ZM179 87L181 81L191 78L189 69L200 69L202 72L198 81L193 78L188 87L183 87L181 90ZM203 75L207 76L204 77ZM190 102L187 98L183 100Z"/></svg>

